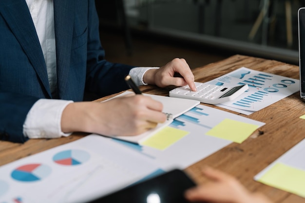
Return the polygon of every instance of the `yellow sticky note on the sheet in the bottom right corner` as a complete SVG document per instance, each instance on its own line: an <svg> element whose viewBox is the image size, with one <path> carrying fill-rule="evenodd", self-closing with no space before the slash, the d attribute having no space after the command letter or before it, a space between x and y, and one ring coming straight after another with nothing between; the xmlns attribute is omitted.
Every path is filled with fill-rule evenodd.
<svg viewBox="0 0 305 203"><path fill-rule="evenodd" d="M305 198L304 170L277 163L258 181Z"/></svg>

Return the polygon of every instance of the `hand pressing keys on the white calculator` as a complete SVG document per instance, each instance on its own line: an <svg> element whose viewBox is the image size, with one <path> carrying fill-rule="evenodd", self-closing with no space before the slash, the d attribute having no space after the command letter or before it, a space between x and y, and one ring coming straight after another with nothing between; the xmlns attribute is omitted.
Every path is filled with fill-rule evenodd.
<svg viewBox="0 0 305 203"><path fill-rule="evenodd" d="M182 77L174 77L175 73L180 74ZM148 70L144 74L143 81L161 88L169 85L189 85L192 91L196 91L194 75L183 58L175 58L159 69Z"/></svg>

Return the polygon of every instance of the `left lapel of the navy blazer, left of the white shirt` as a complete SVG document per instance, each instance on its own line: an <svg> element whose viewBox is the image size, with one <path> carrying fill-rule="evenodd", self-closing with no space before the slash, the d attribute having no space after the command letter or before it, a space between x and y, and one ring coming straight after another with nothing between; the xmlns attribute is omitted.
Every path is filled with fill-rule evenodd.
<svg viewBox="0 0 305 203"><path fill-rule="evenodd" d="M25 0L0 0L0 14L18 39L51 98L47 69L36 29ZM16 59L18 60L18 59Z"/></svg>

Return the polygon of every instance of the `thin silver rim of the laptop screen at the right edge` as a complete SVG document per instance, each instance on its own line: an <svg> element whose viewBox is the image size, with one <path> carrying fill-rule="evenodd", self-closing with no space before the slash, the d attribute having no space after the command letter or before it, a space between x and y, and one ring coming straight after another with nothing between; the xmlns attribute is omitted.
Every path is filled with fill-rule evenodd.
<svg viewBox="0 0 305 203"><path fill-rule="evenodd" d="M300 95L305 100L305 8L298 10Z"/></svg>

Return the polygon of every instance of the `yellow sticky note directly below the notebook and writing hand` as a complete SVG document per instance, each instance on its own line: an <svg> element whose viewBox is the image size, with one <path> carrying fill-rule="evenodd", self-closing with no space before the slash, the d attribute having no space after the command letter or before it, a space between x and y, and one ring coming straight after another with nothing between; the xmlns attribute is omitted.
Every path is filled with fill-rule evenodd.
<svg viewBox="0 0 305 203"><path fill-rule="evenodd" d="M164 150L187 134L189 134L188 131L167 126L142 142L141 145Z"/></svg>

